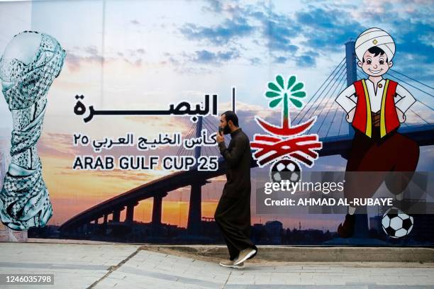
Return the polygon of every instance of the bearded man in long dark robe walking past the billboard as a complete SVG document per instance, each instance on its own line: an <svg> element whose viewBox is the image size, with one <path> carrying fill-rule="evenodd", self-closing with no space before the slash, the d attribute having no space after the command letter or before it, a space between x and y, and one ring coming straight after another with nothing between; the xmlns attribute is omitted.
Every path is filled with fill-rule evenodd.
<svg viewBox="0 0 434 289"><path fill-rule="evenodd" d="M230 133L226 148L225 137ZM220 227L229 250L229 260L220 265L243 268L244 261L257 253L250 240L250 141L238 127L238 117L233 111L221 115L217 132L218 148L226 161L226 184L216 208L214 218Z"/></svg>

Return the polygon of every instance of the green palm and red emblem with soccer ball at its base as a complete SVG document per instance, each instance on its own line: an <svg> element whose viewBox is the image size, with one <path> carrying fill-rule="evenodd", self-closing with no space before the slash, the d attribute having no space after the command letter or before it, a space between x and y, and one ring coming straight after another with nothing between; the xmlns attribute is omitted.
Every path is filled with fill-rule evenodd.
<svg viewBox="0 0 434 289"><path fill-rule="evenodd" d="M268 83L267 98L271 98L269 108L275 108L282 104L282 126L272 125L259 117L255 117L256 123L270 135L255 134L254 141L250 142L252 149L257 149L253 157L260 167L274 162L270 166L270 178L272 181L289 180L296 182L301 179L301 166L311 167L314 160L318 159L318 152L323 143L318 141L317 134L302 135L316 122L316 116L305 123L291 126L289 118L289 103L301 109L304 104L301 98L306 97L303 91L304 84L297 82L296 76L284 81L281 75L277 75L276 82ZM277 162L275 162L277 160Z"/></svg>

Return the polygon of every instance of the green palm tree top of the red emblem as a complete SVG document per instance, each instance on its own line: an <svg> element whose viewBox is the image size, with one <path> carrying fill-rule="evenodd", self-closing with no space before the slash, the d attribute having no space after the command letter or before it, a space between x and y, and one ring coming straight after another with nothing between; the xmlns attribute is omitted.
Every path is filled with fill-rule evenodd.
<svg viewBox="0 0 434 289"><path fill-rule="evenodd" d="M289 77L286 84L280 74L277 75L275 82L268 83L269 90L265 93L267 98L271 98L268 106L275 108L283 101L283 127L289 128L289 101L291 101L296 108L300 109L304 106L304 103L300 100L300 98L306 96L306 92L303 91L303 88L303 82L297 82L295 75Z"/></svg>

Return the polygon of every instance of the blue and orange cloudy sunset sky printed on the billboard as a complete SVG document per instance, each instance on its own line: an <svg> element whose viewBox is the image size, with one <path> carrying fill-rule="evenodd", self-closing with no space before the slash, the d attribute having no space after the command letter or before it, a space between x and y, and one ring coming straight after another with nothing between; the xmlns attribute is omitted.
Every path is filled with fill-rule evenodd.
<svg viewBox="0 0 434 289"><path fill-rule="evenodd" d="M191 126L189 117L180 116L97 115L84 123L73 113L76 94L83 94L83 102L99 110L167 109L169 103L199 103L204 94L218 94L219 113L223 113L231 106L230 91L236 86L240 125L252 140L259 130L255 115L280 121L279 109L269 109L264 97L275 74L296 74L309 98L345 57L344 43L367 28L383 28L396 40L394 69L433 86L432 15L429 0L0 2L0 53L22 30L48 33L67 52L65 66L48 94L38 142L54 208L50 224L61 225L92 205L170 174L73 170L76 155L96 155L89 147L72 145L74 132L92 138L121 137L127 132L156 137L158 132L185 135ZM406 88L433 106L433 98ZM428 123L434 122L432 111L421 103L413 110ZM208 120L218 125L218 118ZM407 121L421 123L415 115L408 115ZM0 97L0 137L9 140L10 132L11 114ZM8 152L9 147L3 146L1 151ZM153 153L176 152L177 148L165 147ZM105 154L142 152L131 147L101 152ZM421 148L418 170L433 171L433 157L433 146ZM325 157L314 169L343 171L345 164L341 157ZM222 176L204 186L205 217L213 216L225 181ZM163 201L162 221L185 227L188 202L189 188L169 193ZM149 222L151 209L152 200L143 200L135 208L135 220ZM252 222L277 219L284 227L298 227L301 221L303 227L335 230L341 218L252 211Z"/></svg>

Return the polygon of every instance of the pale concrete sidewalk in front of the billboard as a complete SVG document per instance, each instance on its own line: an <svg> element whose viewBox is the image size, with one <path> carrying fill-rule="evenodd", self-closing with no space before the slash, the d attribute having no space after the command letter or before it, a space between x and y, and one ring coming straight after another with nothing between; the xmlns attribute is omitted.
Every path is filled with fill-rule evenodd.
<svg viewBox="0 0 434 289"><path fill-rule="evenodd" d="M237 270L140 245L0 243L0 252L0 273L55 275L55 285L1 288L434 288L434 263L258 258Z"/></svg>

